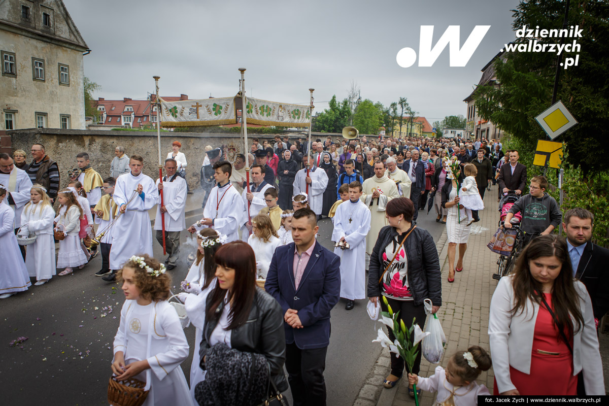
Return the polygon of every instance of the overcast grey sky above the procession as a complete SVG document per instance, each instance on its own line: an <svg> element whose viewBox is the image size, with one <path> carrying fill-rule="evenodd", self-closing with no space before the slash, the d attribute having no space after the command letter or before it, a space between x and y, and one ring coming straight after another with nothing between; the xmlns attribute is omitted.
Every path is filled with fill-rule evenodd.
<svg viewBox="0 0 609 406"><path fill-rule="evenodd" d="M228 97L247 68L248 96L306 103L315 110L351 81L362 99L389 106L400 97L430 122L463 114L481 69L513 40L517 0L64 0L92 52L85 75L102 86L94 96L146 99L160 75L161 96ZM401 68L403 47L418 52L420 26L435 44L449 25L460 44L476 24L490 30L463 68L449 67L448 47L430 68Z"/></svg>

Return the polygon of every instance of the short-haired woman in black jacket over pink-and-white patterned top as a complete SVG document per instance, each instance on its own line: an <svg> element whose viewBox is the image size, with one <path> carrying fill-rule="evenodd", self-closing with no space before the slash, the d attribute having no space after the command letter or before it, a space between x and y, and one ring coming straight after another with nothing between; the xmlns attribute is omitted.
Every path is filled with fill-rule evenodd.
<svg viewBox="0 0 609 406"><path fill-rule="evenodd" d="M385 296L393 312L400 312L400 319L407 327L412 324L413 317L423 327L426 318L424 299L431 299L434 313L442 306L442 276L434 239L427 230L412 225L414 210L412 201L406 197L387 203L389 226L381 228L370 256L368 297L373 303L380 303L386 312L385 304L379 300L381 295ZM395 340L390 329L389 339ZM390 355L391 373L385 378L385 388L393 388L404 372L404 360L393 352ZM418 374L420 363L421 351L412 371L408 372ZM409 394L414 396L412 385Z"/></svg>

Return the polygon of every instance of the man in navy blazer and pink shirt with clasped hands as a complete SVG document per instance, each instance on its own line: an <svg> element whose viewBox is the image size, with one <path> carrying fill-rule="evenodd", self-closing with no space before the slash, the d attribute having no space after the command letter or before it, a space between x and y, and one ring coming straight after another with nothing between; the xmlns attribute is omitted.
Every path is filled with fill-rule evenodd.
<svg viewBox="0 0 609 406"><path fill-rule="evenodd" d="M283 308L286 370L295 406L326 404L330 311L340 298L340 259L315 240L318 229L311 209L294 213L294 242L275 250L264 284Z"/></svg>

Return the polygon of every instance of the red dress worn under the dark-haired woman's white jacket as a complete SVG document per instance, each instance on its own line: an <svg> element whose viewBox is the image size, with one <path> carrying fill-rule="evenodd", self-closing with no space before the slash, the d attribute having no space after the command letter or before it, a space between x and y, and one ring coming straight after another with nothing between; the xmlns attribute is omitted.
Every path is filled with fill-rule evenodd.
<svg viewBox="0 0 609 406"><path fill-rule="evenodd" d="M543 295L547 304L552 306L552 294L543 293ZM575 396L577 394L577 376L573 376L573 357L569 347L558 337L560 335L554 326L552 315L541 304L535 321L530 374L510 366L510 378L521 395ZM573 340L570 344L573 345ZM541 354L538 350L558 353L558 355ZM499 394L496 380L493 394Z"/></svg>

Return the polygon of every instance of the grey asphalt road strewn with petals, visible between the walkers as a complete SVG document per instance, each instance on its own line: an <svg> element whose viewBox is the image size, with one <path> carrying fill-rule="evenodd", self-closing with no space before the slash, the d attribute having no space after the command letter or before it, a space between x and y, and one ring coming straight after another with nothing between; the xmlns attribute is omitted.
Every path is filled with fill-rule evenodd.
<svg viewBox="0 0 609 406"><path fill-rule="evenodd" d="M198 218L186 219L188 225ZM420 211L418 225L437 240L443 225L435 222L434 212ZM320 222L319 241L333 249L329 240L332 223ZM188 233L183 233L182 242ZM157 258L163 256L153 242ZM173 283L185 278L186 257L194 247L183 245L181 264L171 271ZM45 285L32 286L0 302L0 399L5 405L105 405L110 378L112 343L118 328L124 295L118 284L102 281L93 274L101 267L100 256L73 275L55 276ZM32 282L34 282L32 280ZM365 310L366 300L345 310L341 299L332 311L332 337L326 357L326 385L329 405L353 405L359 390L381 353L371 343L375 323ZM194 348L194 328L186 329ZM20 345L13 340L27 337ZM191 350L192 357L192 350ZM191 359L182 363L189 379ZM289 392L289 391L288 391ZM291 402L291 396L286 394Z"/></svg>

